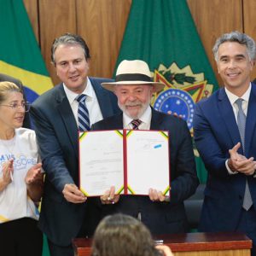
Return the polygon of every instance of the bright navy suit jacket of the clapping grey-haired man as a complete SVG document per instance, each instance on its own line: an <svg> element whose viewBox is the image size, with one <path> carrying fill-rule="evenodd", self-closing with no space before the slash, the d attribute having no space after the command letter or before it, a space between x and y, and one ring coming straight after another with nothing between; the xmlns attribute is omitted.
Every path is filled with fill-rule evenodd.
<svg viewBox="0 0 256 256"><path fill-rule="evenodd" d="M247 108L245 152L256 159L256 84ZM208 171L205 200L201 213L200 230L236 230L245 191L246 176L230 175L225 161L229 149L241 142L236 117L224 89L220 89L195 107L195 144ZM256 179L248 177L249 188L256 206Z"/></svg>

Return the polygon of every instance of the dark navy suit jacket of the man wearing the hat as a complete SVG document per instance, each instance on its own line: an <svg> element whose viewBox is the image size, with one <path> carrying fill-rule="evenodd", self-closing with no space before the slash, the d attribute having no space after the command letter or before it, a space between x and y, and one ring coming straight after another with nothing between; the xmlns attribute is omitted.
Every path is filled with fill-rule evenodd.
<svg viewBox="0 0 256 256"><path fill-rule="evenodd" d="M123 114L103 119L93 125L92 129L123 129ZM102 216L123 212L137 218L140 212L143 223L153 234L186 232L188 225L183 201L193 195L198 186L188 126L183 119L157 112L152 108L150 130L169 131L171 202L153 202L148 196L142 195L121 195L115 205L102 205Z"/></svg>

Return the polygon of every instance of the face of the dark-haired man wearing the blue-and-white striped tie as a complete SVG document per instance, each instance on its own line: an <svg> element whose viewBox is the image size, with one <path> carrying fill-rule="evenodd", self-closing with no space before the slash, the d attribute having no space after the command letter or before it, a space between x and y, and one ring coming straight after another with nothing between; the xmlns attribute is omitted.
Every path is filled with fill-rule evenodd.
<svg viewBox="0 0 256 256"><path fill-rule="evenodd" d="M82 93L86 87L89 62L79 44L61 44L55 49L57 76L69 90Z"/></svg>

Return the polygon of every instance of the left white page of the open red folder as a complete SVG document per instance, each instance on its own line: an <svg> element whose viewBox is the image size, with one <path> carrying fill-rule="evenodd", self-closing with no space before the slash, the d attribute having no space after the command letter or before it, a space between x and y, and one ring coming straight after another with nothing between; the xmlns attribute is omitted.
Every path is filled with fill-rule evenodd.
<svg viewBox="0 0 256 256"><path fill-rule="evenodd" d="M85 195L103 195L113 185L116 190L123 187L123 137L119 132L89 131L80 140L80 189Z"/></svg>

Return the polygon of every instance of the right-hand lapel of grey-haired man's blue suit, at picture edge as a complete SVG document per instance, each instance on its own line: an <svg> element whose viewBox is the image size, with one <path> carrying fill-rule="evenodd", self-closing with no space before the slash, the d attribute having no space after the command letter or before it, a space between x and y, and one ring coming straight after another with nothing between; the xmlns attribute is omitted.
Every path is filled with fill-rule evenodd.
<svg viewBox="0 0 256 256"><path fill-rule="evenodd" d="M247 123L246 123L246 131L245 131L245 154L248 154L249 148L251 148L252 137L254 127L256 125L256 85L252 83L252 90L248 102L247 109ZM251 155L249 155L250 157Z"/></svg>

